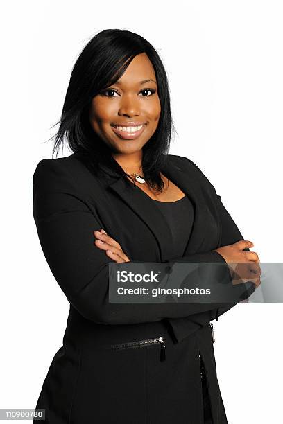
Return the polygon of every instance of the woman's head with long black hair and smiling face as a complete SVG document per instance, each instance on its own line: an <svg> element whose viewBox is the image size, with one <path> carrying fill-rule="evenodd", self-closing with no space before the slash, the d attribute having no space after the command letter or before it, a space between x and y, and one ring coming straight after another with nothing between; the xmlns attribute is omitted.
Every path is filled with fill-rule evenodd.
<svg viewBox="0 0 283 424"><path fill-rule="evenodd" d="M166 71L155 48L130 31L103 30L74 64L53 154L67 138L94 175L115 170L131 189L131 173L141 173L155 197L168 185L161 170L173 127Z"/></svg>

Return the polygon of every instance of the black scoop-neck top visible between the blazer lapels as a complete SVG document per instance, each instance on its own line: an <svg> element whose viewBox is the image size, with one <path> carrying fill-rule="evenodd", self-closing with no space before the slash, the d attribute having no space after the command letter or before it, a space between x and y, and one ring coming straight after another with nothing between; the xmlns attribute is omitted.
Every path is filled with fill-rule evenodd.
<svg viewBox="0 0 283 424"><path fill-rule="evenodd" d="M183 256L194 222L194 206L185 195L175 202L152 199L163 213L173 236L171 258Z"/></svg>

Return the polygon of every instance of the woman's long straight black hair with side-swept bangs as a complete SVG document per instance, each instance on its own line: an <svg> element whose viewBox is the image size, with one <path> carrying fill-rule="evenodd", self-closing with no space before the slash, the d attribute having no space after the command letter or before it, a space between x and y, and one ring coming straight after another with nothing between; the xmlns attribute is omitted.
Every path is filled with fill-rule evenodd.
<svg viewBox="0 0 283 424"><path fill-rule="evenodd" d="M71 78L55 136L53 154L67 139L70 150L87 159L94 173L100 165L122 176L129 184L126 173L114 160L111 150L98 137L89 123L89 106L101 90L119 80L128 65L140 53L151 60L157 78L157 92L161 112L157 129L143 147L142 170L148 185L162 191L164 183L160 170L166 164L171 134L175 130L171 116L169 85L162 60L155 48L136 33L121 29L106 29L97 33L83 48L71 71ZM55 125L58 125L56 123ZM48 140L50 141L50 139ZM53 157L52 154L52 157Z"/></svg>

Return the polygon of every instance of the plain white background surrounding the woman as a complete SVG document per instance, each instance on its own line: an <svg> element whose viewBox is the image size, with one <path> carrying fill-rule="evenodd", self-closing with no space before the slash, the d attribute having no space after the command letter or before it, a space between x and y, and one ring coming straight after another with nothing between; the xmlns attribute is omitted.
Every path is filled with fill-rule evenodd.
<svg viewBox="0 0 283 424"><path fill-rule="evenodd" d="M283 262L282 20L271 0L2 5L1 409L35 408L67 324L69 303L37 238L32 178L51 157L44 141L58 130L83 46L121 28L157 48L178 131L171 154L203 170L261 262ZM229 424L282 422L282 312L282 303L241 303L214 321Z"/></svg>

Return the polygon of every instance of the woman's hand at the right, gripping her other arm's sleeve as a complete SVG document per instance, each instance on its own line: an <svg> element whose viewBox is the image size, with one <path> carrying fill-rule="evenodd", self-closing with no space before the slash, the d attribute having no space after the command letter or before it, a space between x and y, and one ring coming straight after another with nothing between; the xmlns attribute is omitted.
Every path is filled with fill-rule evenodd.
<svg viewBox="0 0 283 424"><path fill-rule="evenodd" d="M247 280L252 281L257 287L261 283L259 256L255 251L243 251L243 249L250 247L253 247L251 241L239 240L232 245L214 249L228 263L233 284L242 283L243 280Z"/></svg>

